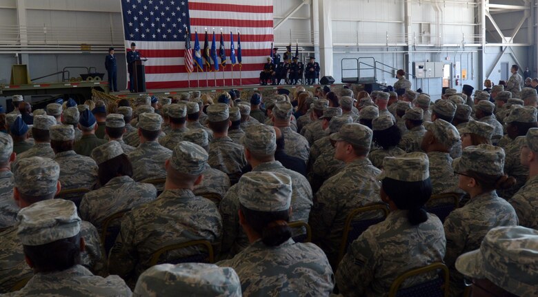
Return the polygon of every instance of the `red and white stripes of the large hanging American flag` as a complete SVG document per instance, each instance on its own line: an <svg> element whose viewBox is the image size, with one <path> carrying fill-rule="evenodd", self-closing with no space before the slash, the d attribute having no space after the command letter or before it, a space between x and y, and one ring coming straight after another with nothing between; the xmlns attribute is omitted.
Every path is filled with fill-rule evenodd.
<svg viewBox="0 0 538 297"><path fill-rule="evenodd" d="M203 49L205 30L219 34L222 28L226 48L227 65L219 72L188 73L186 59L192 61L185 51L185 43L135 41L141 57L148 58L146 65L146 88L197 88L223 85L254 85L259 83L259 73L270 54L273 41L272 0L193 0L189 1L190 46L195 45L195 30ZM232 71L230 64L230 31L234 34L237 56L237 31L241 33L241 73L239 65ZM210 40L211 40L210 36ZM131 41L126 40L126 48ZM217 42L218 46L218 42ZM218 48L217 48L218 50ZM232 79L233 77L233 79ZM216 79L215 79L216 78Z"/></svg>

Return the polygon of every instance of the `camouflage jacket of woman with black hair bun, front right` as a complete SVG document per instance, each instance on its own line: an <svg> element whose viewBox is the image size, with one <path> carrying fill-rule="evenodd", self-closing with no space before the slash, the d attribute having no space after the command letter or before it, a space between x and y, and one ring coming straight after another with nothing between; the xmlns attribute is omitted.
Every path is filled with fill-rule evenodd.
<svg viewBox="0 0 538 297"><path fill-rule="evenodd" d="M344 296L388 296L392 282L404 272L442 262L446 252L443 223L433 214L410 225L406 210L391 212L385 221L366 229L350 244L336 273ZM410 287L436 276L406 280Z"/></svg>

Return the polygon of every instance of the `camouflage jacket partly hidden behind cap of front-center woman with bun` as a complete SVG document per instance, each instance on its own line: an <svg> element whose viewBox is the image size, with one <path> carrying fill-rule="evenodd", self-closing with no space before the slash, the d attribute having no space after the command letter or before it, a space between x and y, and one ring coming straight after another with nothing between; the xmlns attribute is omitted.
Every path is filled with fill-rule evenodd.
<svg viewBox="0 0 538 297"><path fill-rule="evenodd" d="M292 216L290 222L303 221L308 223L308 214L312 208L312 189L301 174L283 167L279 161L262 163L252 168L252 172L277 172L288 174L292 179ZM223 219L223 252L230 252L230 256L241 252L248 246L248 238L239 225L239 195L242 190L233 185L219 205Z"/></svg>

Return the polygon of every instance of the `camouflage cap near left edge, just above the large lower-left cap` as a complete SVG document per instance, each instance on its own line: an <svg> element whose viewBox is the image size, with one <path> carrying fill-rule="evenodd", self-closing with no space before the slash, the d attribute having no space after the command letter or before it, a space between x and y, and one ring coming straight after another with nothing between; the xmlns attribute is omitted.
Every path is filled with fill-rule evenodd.
<svg viewBox="0 0 538 297"><path fill-rule="evenodd" d="M52 158L22 158L14 170L14 187L28 196L46 196L56 192L59 176L60 166Z"/></svg>

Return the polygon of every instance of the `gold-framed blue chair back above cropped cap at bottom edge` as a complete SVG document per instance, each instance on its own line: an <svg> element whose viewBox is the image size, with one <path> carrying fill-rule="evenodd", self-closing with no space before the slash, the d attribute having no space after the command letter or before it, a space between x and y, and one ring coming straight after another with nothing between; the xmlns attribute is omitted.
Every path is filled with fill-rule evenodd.
<svg viewBox="0 0 538 297"><path fill-rule="evenodd" d="M169 256L170 252L185 249L186 247L195 247L197 245L204 247L207 252L179 258ZM213 254L213 247L208 240L192 240L187 243L168 245L157 250L157 252L153 253L151 257L150 266L154 266L159 263L215 263L215 255Z"/></svg>

